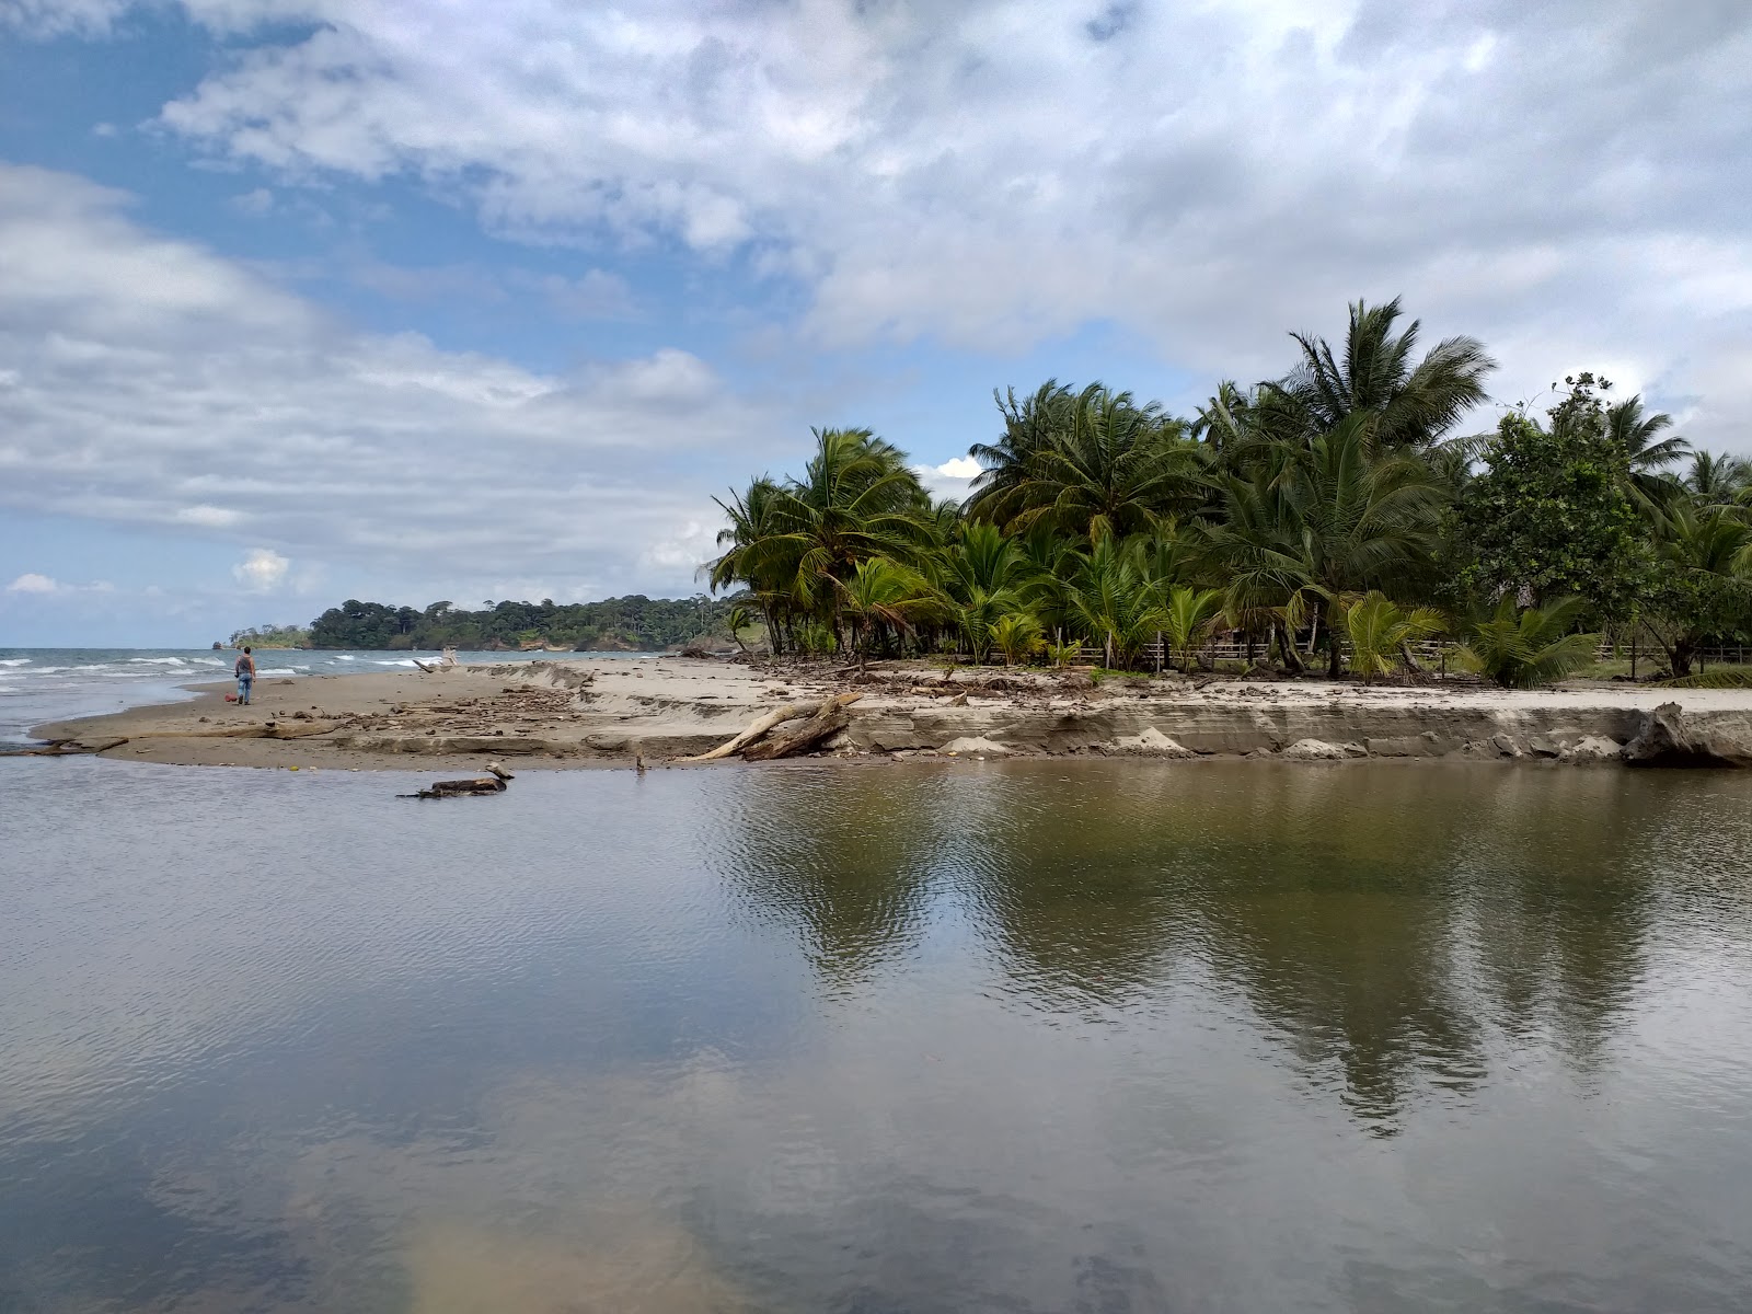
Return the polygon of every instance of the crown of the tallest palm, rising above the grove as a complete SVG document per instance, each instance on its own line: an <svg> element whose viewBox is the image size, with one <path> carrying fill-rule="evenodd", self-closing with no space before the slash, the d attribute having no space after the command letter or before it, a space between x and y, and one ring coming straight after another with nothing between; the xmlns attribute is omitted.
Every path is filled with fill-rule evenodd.
<svg viewBox="0 0 1752 1314"><path fill-rule="evenodd" d="M1368 412L1384 447L1426 447L1480 401L1484 377L1496 368L1477 338L1445 338L1416 364L1419 321L1403 333L1400 301L1351 307L1342 356L1325 338L1293 333L1302 364L1282 382L1310 433L1335 429Z"/></svg>

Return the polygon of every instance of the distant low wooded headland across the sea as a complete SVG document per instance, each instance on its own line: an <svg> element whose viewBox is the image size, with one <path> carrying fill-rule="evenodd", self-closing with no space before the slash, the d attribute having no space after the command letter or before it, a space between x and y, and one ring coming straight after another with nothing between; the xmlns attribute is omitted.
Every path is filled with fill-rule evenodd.
<svg viewBox="0 0 1752 1314"><path fill-rule="evenodd" d="M629 594L601 603L485 603L478 611L454 603L424 610L349 597L310 622L312 648L464 648L498 652L555 646L578 652L653 652L724 629L734 604L694 597Z"/></svg>

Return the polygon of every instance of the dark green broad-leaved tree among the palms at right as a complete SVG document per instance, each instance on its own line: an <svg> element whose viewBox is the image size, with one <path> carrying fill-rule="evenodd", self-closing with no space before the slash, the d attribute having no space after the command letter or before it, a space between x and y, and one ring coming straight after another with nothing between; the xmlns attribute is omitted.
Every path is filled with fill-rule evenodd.
<svg viewBox="0 0 1752 1314"><path fill-rule="evenodd" d="M1589 380L1580 375L1580 380ZM1461 526L1477 594L1580 596L1607 620L1628 620L1649 578L1647 529L1631 496L1631 464L1587 382L1552 412L1551 427L1508 413L1466 487Z"/></svg>

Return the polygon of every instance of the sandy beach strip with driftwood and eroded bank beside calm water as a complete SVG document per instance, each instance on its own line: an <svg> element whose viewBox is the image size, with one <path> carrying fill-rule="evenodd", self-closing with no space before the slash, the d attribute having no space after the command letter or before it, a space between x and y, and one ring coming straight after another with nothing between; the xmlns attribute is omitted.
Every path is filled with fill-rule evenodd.
<svg viewBox="0 0 1752 1314"><path fill-rule="evenodd" d="M1654 708L1752 764L1752 690L1500 690L872 662L766 668L659 657L184 685L193 701L49 722L65 752L177 766L478 769L668 766L776 708L857 694L809 757L1270 757L1615 762Z"/></svg>

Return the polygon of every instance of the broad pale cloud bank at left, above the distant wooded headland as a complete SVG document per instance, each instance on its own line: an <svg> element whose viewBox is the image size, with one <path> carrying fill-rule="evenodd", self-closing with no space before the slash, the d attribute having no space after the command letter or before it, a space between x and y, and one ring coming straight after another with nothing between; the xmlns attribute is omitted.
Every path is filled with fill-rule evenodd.
<svg viewBox="0 0 1752 1314"><path fill-rule="evenodd" d="M286 585L687 592L659 545L804 431L683 350L536 373L357 333L124 208L0 165L0 506L247 534Z"/></svg>

